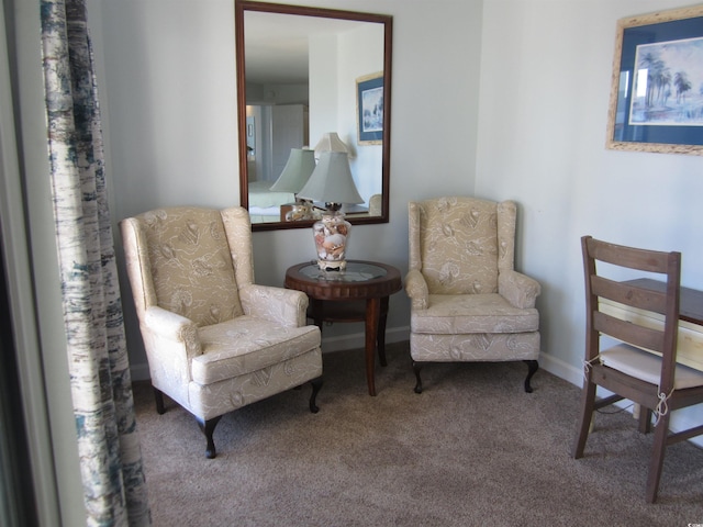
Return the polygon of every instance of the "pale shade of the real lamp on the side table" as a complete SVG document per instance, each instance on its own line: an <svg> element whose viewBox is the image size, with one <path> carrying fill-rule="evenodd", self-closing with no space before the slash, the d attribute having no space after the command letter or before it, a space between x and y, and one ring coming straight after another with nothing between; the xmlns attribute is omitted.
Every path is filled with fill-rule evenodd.
<svg viewBox="0 0 703 527"><path fill-rule="evenodd" d="M364 203L354 184L349 160L345 152L323 152L317 166L298 197L324 203ZM337 206L338 209L338 206Z"/></svg>

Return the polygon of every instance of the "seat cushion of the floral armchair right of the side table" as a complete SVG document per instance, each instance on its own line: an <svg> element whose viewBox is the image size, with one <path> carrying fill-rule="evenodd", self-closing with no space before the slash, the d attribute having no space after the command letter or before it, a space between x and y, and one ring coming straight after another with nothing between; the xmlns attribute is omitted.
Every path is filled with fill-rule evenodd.
<svg viewBox="0 0 703 527"><path fill-rule="evenodd" d="M410 325L437 335L525 333L539 329L539 313L513 307L498 293L431 294L426 310L412 311Z"/></svg>

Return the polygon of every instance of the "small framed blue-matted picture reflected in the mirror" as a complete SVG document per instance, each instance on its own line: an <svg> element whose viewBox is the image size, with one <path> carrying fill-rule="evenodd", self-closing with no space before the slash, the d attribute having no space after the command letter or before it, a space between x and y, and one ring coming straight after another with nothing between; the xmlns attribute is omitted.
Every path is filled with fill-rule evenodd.
<svg viewBox="0 0 703 527"><path fill-rule="evenodd" d="M383 143L383 72L356 79L356 119L359 145Z"/></svg>

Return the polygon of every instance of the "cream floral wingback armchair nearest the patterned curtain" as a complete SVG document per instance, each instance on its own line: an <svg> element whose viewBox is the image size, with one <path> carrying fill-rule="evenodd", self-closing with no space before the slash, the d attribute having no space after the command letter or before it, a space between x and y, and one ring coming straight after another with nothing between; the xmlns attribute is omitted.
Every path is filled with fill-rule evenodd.
<svg viewBox="0 0 703 527"><path fill-rule="evenodd" d="M193 414L214 458L228 412L306 381L317 412L320 329L304 293L254 283L245 209L160 209L120 226L159 414L163 394Z"/></svg>

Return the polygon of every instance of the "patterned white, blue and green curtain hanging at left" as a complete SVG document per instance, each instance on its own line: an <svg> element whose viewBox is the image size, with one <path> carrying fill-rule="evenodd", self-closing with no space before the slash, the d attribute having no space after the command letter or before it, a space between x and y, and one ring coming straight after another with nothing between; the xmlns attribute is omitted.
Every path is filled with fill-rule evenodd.
<svg viewBox="0 0 703 527"><path fill-rule="evenodd" d="M88 525L150 525L85 0L41 0L48 148Z"/></svg>

